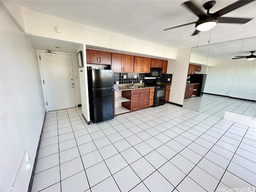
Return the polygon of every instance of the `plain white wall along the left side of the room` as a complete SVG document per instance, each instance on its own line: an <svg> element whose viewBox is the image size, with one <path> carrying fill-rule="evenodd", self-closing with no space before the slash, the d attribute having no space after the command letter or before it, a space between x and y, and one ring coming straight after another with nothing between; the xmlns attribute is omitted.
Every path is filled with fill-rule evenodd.
<svg viewBox="0 0 256 192"><path fill-rule="evenodd" d="M0 191L5 192L10 191L25 150L33 166L45 105L36 50L2 8L0 38ZM20 172L20 191L28 190L31 173L32 169Z"/></svg>

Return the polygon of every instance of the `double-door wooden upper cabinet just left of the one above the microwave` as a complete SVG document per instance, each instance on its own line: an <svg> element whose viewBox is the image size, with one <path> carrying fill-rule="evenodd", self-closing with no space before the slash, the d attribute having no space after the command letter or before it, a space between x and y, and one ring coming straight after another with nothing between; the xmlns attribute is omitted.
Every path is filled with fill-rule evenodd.
<svg viewBox="0 0 256 192"><path fill-rule="evenodd" d="M134 72L150 73L151 58L134 56Z"/></svg>

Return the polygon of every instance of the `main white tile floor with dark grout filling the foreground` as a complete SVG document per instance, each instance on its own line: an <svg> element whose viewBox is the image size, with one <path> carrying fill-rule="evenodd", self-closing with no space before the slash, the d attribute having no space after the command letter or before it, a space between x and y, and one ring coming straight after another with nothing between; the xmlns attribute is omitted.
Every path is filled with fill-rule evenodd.
<svg viewBox="0 0 256 192"><path fill-rule="evenodd" d="M46 114L32 191L255 190L254 128L171 104L89 126L81 111Z"/></svg>

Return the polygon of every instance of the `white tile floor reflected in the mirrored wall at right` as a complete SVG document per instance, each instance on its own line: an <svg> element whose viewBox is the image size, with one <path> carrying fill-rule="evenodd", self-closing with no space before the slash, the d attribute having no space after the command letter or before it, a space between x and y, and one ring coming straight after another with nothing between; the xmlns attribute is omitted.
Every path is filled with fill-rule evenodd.
<svg viewBox="0 0 256 192"><path fill-rule="evenodd" d="M256 117L256 102L204 94L184 99L183 108L223 118L225 111Z"/></svg>

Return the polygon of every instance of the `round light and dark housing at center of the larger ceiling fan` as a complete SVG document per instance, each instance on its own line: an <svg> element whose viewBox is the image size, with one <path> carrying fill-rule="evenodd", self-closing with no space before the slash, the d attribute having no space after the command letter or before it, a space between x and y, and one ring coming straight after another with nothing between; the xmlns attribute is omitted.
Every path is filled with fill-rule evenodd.
<svg viewBox="0 0 256 192"><path fill-rule="evenodd" d="M208 31L214 28L219 22L218 17L206 17L202 19L198 19L196 22L196 30L198 31Z"/></svg>

